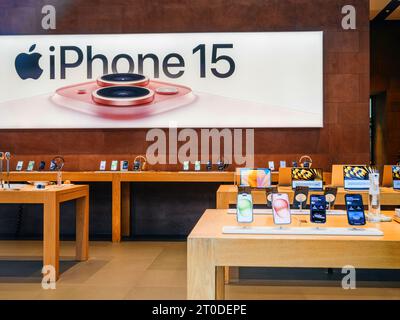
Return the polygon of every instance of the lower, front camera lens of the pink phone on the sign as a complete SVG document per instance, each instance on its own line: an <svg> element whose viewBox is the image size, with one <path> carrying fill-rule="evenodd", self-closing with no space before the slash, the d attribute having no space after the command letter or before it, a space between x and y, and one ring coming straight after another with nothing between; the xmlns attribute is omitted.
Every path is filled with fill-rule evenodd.
<svg viewBox="0 0 400 320"><path fill-rule="evenodd" d="M93 91L92 99L108 106L134 106L153 101L154 91L143 87L113 86Z"/></svg>

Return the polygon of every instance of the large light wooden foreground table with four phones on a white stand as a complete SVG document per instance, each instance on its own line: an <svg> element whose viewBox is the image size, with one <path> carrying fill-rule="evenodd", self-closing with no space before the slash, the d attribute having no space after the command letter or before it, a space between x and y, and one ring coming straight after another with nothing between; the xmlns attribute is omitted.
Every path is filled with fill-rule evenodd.
<svg viewBox="0 0 400 320"><path fill-rule="evenodd" d="M393 212L384 212L393 215ZM310 227L308 216L292 225ZM307 220L307 223L302 222ZM237 225L226 210L206 210L188 237L188 299L224 299L224 267L304 267L399 269L400 224L367 223L383 236L223 234ZM272 226L272 216L254 216L253 226ZM343 216L329 216L327 227L348 227Z"/></svg>

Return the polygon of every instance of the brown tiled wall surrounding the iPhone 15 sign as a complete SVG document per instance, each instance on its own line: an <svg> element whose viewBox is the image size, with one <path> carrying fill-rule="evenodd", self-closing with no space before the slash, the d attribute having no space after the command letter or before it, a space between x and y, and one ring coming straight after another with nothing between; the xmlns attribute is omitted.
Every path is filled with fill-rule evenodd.
<svg viewBox="0 0 400 320"><path fill-rule="evenodd" d="M289 162L302 154L325 170L332 163L369 161L368 0L2 0L0 34L47 33L40 29L41 6L47 3L58 9L56 33L323 30L324 128L256 130L256 165ZM341 28L346 4L357 10L355 31ZM145 134L7 130L0 131L0 149L24 160L62 154L67 170L87 170L96 169L103 158L132 159L144 153Z"/></svg>

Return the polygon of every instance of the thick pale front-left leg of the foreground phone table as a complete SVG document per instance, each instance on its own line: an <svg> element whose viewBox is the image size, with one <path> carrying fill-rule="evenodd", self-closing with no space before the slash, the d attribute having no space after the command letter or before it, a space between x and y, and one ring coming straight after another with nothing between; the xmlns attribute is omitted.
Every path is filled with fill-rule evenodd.
<svg viewBox="0 0 400 320"><path fill-rule="evenodd" d="M189 300L216 298L216 268L212 251L212 240L188 239L187 298Z"/></svg>

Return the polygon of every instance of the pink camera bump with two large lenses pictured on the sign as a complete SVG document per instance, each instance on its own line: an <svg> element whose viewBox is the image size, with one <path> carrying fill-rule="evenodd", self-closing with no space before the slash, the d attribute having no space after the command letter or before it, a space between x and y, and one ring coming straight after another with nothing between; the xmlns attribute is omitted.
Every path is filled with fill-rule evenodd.
<svg viewBox="0 0 400 320"><path fill-rule="evenodd" d="M57 105L108 118L146 117L192 103L189 87L148 79L139 74L103 75L97 81L62 87Z"/></svg>

